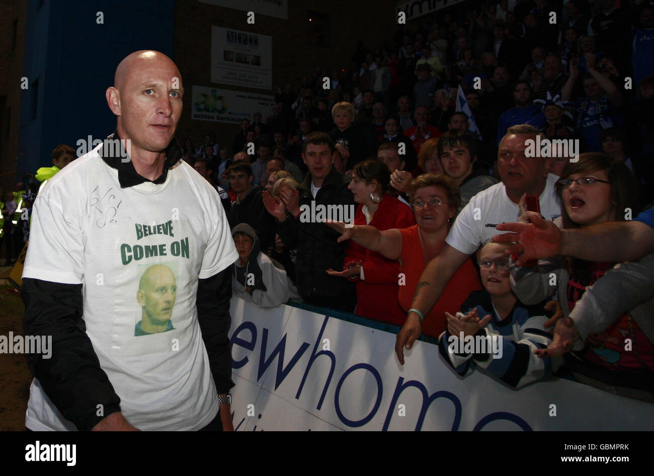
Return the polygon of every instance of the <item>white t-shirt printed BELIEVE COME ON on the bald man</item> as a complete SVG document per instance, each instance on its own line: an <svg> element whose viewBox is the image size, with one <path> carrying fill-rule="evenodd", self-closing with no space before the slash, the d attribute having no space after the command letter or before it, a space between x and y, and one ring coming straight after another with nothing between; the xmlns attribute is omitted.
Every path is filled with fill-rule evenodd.
<svg viewBox="0 0 654 476"><path fill-rule="evenodd" d="M238 257L218 192L184 161L162 184L120 188L99 148L37 196L23 278L83 285L86 333L131 424L198 430L218 411L198 279ZM26 426L75 430L37 379Z"/></svg>

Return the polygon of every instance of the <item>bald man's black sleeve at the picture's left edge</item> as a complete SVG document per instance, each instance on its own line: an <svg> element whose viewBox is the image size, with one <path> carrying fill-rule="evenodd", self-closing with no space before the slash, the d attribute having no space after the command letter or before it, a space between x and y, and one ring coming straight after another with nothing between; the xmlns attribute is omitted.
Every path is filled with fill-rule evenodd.
<svg viewBox="0 0 654 476"><path fill-rule="evenodd" d="M27 354L27 367L61 415L88 431L120 411L120 398L100 367L82 318L82 284L24 278L25 335L52 336L50 358ZM103 416L98 406L103 405Z"/></svg>

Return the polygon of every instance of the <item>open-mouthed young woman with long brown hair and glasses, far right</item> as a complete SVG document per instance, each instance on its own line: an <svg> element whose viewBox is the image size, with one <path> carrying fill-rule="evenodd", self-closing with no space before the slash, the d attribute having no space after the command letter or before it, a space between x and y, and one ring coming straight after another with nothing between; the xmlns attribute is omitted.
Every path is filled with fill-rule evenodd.
<svg viewBox="0 0 654 476"><path fill-rule="evenodd" d="M557 182L563 205L563 228L583 228L603 222L622 222L638 213L638 188L632 173L608 154L588 152L569 163ZM524 198L521 211L524 212ZM525 222L524 216L519 222ZM620 243L615 243L620 246ZM587 262L570 256L540 260L538 267L513 267L511 287L524 303L556 294L568 317L585 290L602 279L615 263ZM615 296L615 299L619 299ZM590 334L566 354L577 380L611 388L611 392L654 401L654 339L643 328L653 319L651 309L636 307L620 315L603 332ZM639 325L642 324L641 325Z"/></svg>

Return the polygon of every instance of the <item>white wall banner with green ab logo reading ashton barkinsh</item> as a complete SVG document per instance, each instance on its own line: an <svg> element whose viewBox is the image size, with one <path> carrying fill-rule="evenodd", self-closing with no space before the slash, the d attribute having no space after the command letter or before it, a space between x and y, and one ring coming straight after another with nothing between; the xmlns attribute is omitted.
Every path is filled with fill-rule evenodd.
<svg viewBox="0 0 654 476"><path fill-rule="evenodd" d="M194 85L191 118L240 124L242 119L252 120L254 112L261 112L265 120L273 113L274 104L272 95Z"/></svg>

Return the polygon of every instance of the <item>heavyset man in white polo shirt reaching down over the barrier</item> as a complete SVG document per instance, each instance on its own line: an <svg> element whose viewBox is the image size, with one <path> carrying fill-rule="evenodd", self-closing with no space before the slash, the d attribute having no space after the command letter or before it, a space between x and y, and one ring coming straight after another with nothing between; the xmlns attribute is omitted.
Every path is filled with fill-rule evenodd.
<svg viewBox="0 0 654 476"><path fill-rule="evenodd" d="M509 127L500 141L498 168L502 182L473 196L456 217L445 247L422 272L413 298L412 309L398 332L395 351L404 364L404 349L411 349L421 334L422 316L426 316L438 301L456 270L481 245L500 233L495 227L504 222L515 222L520 216L518 203L523 194L537 196L540 213L547 220L560 215L560 202L555 192L558 177L547 173L549 159L526 157L526 141L536 140L536 127L520 124ZM456 311L456 309L455 309Z"/></svg>

